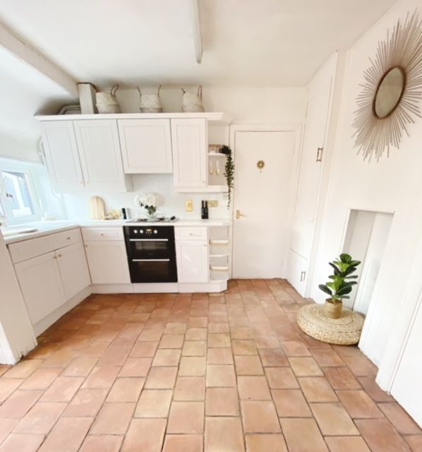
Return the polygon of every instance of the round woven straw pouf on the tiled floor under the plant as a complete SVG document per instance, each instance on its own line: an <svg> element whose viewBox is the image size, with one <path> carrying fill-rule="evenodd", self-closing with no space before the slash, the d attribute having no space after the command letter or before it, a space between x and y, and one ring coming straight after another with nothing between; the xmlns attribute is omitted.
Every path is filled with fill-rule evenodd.
<svg viewBox="0 0 422 452"><path fill-rule="evenodd" d="M343 309L338 319L325 316L321 304L307 304L298 312L297 322L302 331L322 342L352 345L359 342L363 317L349 309Z"/></svg>

